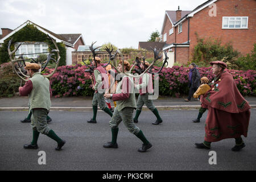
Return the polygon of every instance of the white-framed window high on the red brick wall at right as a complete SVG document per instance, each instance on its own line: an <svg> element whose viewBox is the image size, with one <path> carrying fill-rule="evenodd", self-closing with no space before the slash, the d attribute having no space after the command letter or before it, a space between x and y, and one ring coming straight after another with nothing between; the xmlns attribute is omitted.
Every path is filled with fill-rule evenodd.
<svg viewBox="0 0 256 182"><path fill-rule="evenodd" d="M223 16L222 28L224 29L248 28L248 16Z"/></svg>

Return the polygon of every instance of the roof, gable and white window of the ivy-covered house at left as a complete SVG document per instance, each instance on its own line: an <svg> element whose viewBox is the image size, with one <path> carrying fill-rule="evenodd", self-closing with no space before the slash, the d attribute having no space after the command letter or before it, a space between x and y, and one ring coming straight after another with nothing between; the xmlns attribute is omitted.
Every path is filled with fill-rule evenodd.
<svg viewBox="0 0 256 182"><path fill-rule="evenodd" d="M1 28L2 29L2 35L0 34L0 47L3 42L9 38L11 35L15 34L15 32L19 31L23 27L25 27L27 24L33 24L38 30L42 31L44 34L48 34L51 36L51 38L55 39L55 41L62 42L65 44L66 48L66 64L71 65L72 64L72 51L77 51L79 46L85 45L84 38L82 38L82 34L55 34L46 28L43 28L39 26L38 24L35 24L31 22L30 20L27 20L27 22L21 24L19 27L15 28L14 30L11 30L10 28ZM22 46L18 49L18 54L21 53L37 53L37 52L47 52L48 45L45 43L26 43L22 44ZM36 55L27 55L27 57L35 58Z"/></svg>

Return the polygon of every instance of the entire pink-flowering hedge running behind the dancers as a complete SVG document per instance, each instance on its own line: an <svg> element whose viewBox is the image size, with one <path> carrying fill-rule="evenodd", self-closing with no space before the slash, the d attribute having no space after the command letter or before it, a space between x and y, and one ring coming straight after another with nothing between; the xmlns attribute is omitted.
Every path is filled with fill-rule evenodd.
<svg viewBox="0 0 256 182"><path fill-rule="evenodd" d="M212 67L197 68L201 77L207 77L210 81L214 75L210 71ZM50 78L53 96L93 96L92 81L90 73L85 73L85 65L67 65L57 68L55 74ZM51 73L53 69L46 68L44 73ZM226 69L233 75L237 88L243 96L256 96L256 71L238 71ZM159 73L159 94L160 96L174 96L188 94L188 67L174 66L172 68L163 68ZM153 76L154 78L154 76Z"/></svg>

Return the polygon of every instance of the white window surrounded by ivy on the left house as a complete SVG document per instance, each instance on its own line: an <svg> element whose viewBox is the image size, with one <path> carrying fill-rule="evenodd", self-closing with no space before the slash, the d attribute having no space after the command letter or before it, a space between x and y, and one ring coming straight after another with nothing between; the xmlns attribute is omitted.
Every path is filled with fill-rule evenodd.
<svg viewBox="0 0 256 182"><path fill-rule="evenodd" d="M15 47L18 46L19 43L15 44ZM34 55L24 55L24 57L28 57L28 58L36 58L37 56L39 56L39 54L36 53L40 53L40 52L48 52L48 45L46 43L43 42L38 42L35 44L30 44L30 43L22 43L22 45L20 45L20 47L18 48L18 50L15 52L16 55L21 55L21 54L27 54L27 53L34 53ZM46 53L48 54L48 53ZM18 56L16 56L18 57Z"/></svg>

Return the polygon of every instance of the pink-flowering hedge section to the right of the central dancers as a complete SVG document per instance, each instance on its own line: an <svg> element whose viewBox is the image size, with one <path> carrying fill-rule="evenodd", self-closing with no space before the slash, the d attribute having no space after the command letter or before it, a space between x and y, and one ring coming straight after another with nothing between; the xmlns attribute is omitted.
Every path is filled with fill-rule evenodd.
<svg viewBox="0 0 256 182"><path fill-rule="evenodd" d="M197 68L201 77L207 77L210 81L214 75L210 71L212 67ZM256 71L238 71L234 69L226 69L233 75L238 90L243 96L256 95ZM172 68L163 68L159 73L159 94L164 96L179 97L181 94L188 94L188 73L189 68L174 66Z"/></svg>

